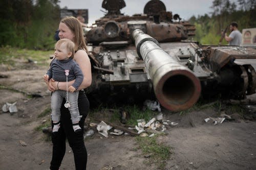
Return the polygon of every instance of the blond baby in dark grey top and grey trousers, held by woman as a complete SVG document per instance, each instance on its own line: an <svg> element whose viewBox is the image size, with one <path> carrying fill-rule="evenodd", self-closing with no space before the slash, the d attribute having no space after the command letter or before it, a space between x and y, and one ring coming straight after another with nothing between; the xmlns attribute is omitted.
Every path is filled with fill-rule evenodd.
<svg viewBox="0 0 256 170"><path fill-rule="evenodd" d="M51 117L54 125L52 129L53 133L57 133L60 127L60 107L63 98L66 99L65 107L70 111L74 131L76 133L81 131L81 128L78 124L81 116L79 115L78 111L78 91L76 90L83 81L83 74L79 65L73 60L74 54L75 44L71 40L67 38L58 40L55 44L55 58L51 62L47 74L44 75L44 80L46 82L48 82L51 78L58 83L67 82L67 90L57 89L52 92ZM68 87L68 82L74 79L74 84Z"/></svg>

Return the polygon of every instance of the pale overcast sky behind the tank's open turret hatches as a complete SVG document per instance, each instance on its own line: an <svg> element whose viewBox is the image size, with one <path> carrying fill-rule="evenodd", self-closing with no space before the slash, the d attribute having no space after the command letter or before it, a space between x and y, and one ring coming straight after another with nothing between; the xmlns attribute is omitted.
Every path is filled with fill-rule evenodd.
<svg viewBox="0 0 256 170"><path fill-rule="evenodd" d="M105 11L101 7L103 0L59 0L60 8L67 7L68 9L88 9L89 25L94 21L104 16ZM124 0L125 1L125 0ZM166 7L166 11L172 11L174 14L179 14L184 20L195 15L210 15L213 0L161 0ZM124 15L142 14L145 4L148 0L126 0L126 7L121 9Z"/></svg>

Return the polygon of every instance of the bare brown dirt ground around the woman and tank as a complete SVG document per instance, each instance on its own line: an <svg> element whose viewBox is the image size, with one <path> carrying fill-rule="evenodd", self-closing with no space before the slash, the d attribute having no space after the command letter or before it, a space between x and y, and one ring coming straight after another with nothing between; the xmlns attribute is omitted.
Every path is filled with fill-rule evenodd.
<svg viewBox="0 0 256 170"><path fill-rule="evenodd" d="M34 130L43 124L44 119L49 119L49 115L37 117L50 106L50 92L42 81L46 68L27 64L27 69L6 69L0 74L7 77L0 78L1 87L16 90L0 89L1 108L6 102L17 102L18 109L13 114L0 111L0 169L45 170L51 161L51 141L46 140L46 134ZM28 99L26 94L41 97ZM158 142L172 148L165 169L256 169L255 119L228 113L234 120L214 125L204 122L204 119L217 117L215 109L182 115L163 109L162 113L164 119L178 123L166 126L166 135L158 137ZM96 132L84 142L89 170L157 169L156 165L146 163L148 158L140 150L135 150L137 144L133 136L109 135L105 138ZM68 143L62 169L75 169Z"/></svg>

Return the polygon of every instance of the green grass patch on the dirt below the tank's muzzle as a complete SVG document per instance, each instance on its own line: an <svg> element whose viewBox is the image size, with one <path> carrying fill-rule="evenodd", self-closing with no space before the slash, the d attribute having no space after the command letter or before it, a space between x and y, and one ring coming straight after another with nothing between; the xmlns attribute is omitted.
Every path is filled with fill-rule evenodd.
<svg viewBox="0 0 256 170"><path fill-rule="evenodd" d="M144 156L149 158L148 163L155 163L158 169L164 169L166 160L170 157L170 147L166 147L163 144L157 143L157 137L136 137L136 141L139 144L139 149L142 150Z"/></svg>

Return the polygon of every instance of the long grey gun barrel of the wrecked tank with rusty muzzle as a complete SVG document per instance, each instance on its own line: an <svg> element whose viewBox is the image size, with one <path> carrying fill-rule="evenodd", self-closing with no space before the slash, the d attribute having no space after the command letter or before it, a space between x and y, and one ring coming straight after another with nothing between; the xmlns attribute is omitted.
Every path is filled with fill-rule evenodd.
<svg viewBox="0 0 256 170"><path fill-rule="evenodd" d="M171 111L193 106L201 93L200 81L193 72L169 56L156 39L142 30L135 29L132 35L160 104Z"/></svg>

